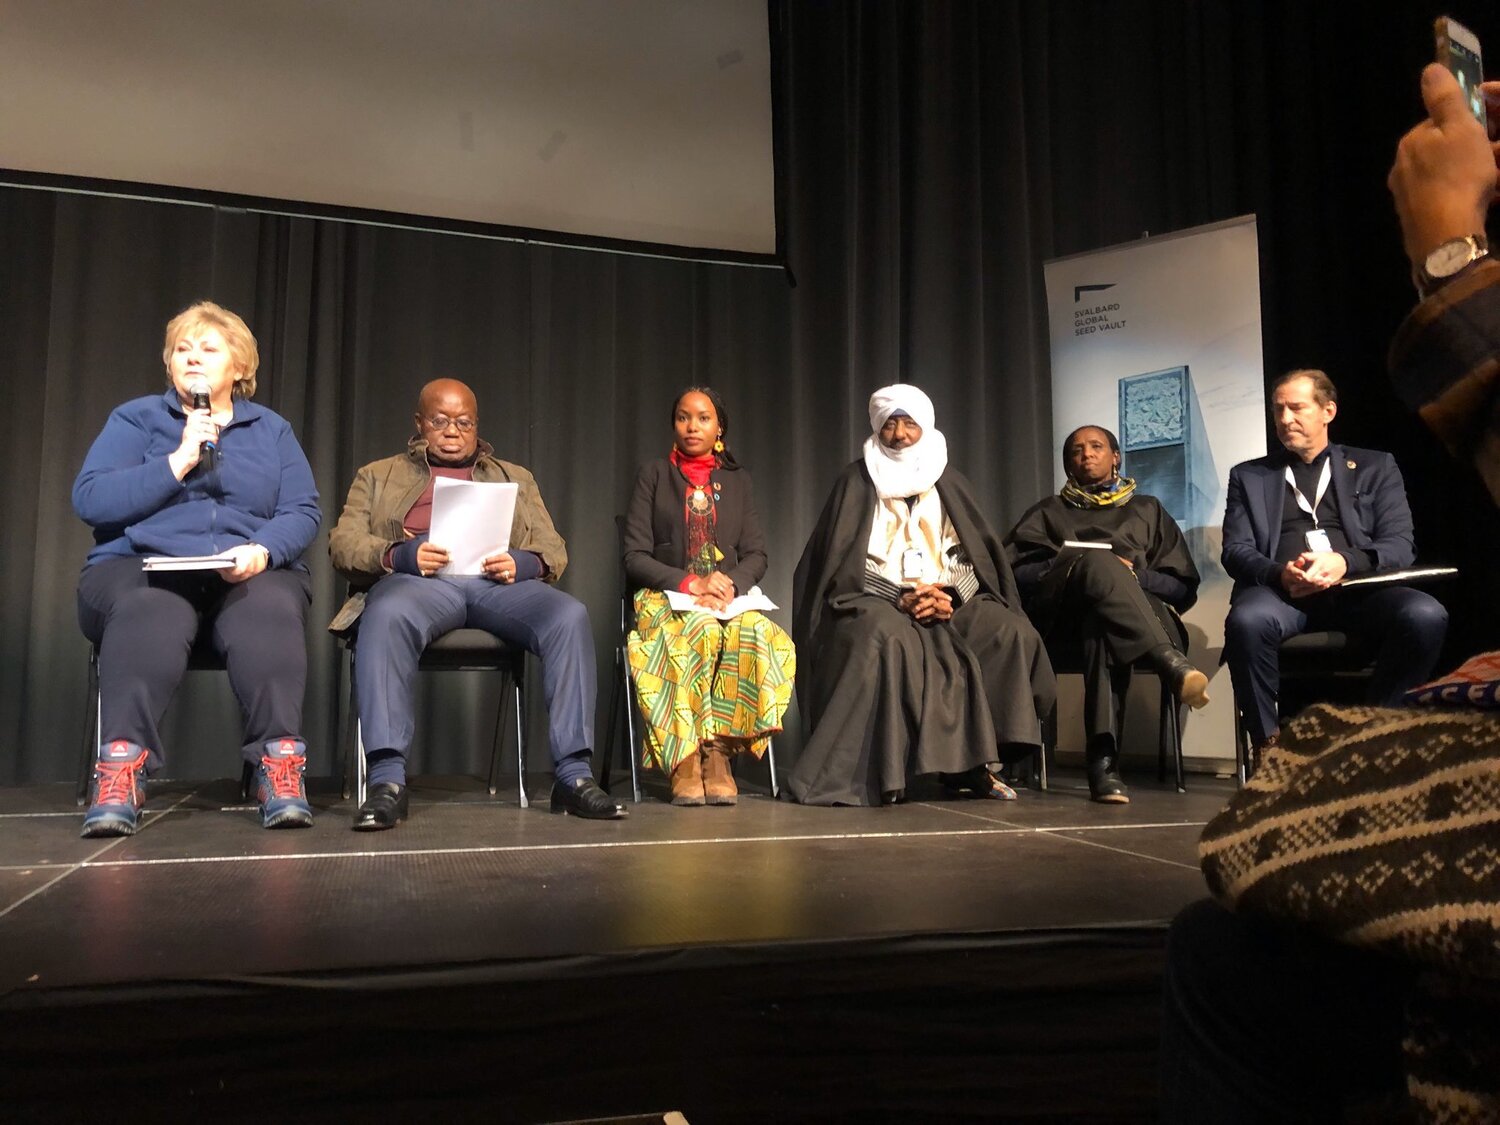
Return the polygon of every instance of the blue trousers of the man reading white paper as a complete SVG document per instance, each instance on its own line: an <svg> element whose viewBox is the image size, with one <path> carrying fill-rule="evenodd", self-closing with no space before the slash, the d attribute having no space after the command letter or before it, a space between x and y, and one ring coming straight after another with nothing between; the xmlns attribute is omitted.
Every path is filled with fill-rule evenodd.
<svg viewBox="0 0 1500 1125"><path fill-rule="evenodd" d="M364 600L354 644L354 690L369 750L405 756L422 650L454 628L483 628L542 658L548 734L556 762L594 747L594 636L584 603L546 582L387 574Z"/></svg>

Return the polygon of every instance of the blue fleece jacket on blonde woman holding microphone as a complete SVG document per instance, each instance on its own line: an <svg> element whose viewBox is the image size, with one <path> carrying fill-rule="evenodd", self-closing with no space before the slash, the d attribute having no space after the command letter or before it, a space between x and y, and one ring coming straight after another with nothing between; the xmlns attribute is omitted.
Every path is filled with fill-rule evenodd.
<svg viewBox="0 0 1500 1125"><path fill-rule="evenodd" d="M312 468L286 418L248 399L219 434L219 456L184 480L166 456L182 444L177 392L117 406L74 482L74 512L93 528L88 564L129 555L214 555L260 543L296 562L322 513Z"/></svg>

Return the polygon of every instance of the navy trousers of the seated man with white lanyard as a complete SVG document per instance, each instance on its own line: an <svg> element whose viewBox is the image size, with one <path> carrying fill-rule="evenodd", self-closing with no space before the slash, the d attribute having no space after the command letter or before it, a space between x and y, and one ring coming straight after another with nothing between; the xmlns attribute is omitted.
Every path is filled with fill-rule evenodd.
<svg viewBox="0 0 1500 1125"><path fill-rule="evenodd" d="M1330 590L1294 600L1280 586L1242 590L1224 622L1224 662L1257 744L1280 728L1281 642L1320 630L1348 633L1366 646L1376 657L1370 702L1400 704L1404 692L1432 675L1448 634L1448 610L1410 586Z"/></svg>

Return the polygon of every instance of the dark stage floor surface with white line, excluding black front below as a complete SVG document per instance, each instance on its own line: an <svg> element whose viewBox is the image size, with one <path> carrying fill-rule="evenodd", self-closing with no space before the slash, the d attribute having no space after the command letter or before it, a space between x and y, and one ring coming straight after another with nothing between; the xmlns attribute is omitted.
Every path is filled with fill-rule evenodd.
<svg viewBox="0 0 1500 1125"><path fill-rule="evenodd" d="M142 828L81 840L64 786L0 792L0 996L144 981L354 974L693 946L1161 927L1202 897L1196 840L1224 782L1077 776L1018 801L806 808L660 800L618 822L552 816L514 786L418 778L411 819L348 831L352 802L268 832L231 782L154 783ZM622 789L626 786L616 786ZM108 940L100 940L108 934ZM36 998L39 999L39 998Z"/></svg>

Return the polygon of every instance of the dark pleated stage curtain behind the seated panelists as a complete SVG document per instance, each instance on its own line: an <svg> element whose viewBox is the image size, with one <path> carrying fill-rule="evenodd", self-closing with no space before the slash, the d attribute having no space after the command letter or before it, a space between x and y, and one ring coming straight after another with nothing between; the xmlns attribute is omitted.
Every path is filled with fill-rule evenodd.
<svg viewBox="0 0 1500 1125"><path fill-rule="evenodd" d="M402 447L423 381L468 381L483 435L536 471L570 544L562 586L592 614L603 738L618 639L612 516L639 462L668 448L678 387L710 382L728 399L766 524L765 586L789 610L792 567L868 432L873 387L904 380L932 393L952 462L1008 526L1048 486L1054 456L1041 262L1251 212L1268 368L1334 374L1336 435L1398 453L1424 556L1467 568L1470 585L1452 591L1466 603L1455 648L1496 628L1479 582L1492 567L1484 544L1500 548L1488 506L1384 381L1412 300L1384 172L1420 116L1431 10L1377 22L1353 4L849 0L788 15L795 286L766 270L0 192L12 420L0 454L0 783L75 768L87 648L74 586L88 534L69 489L108 411L164 386L162 327L200 297L250 322L260 399L292 422L322 492L308 628L318 771L333 768L340 694L322 632L342 597L327 526L354 468ZM1500 44L1494 16L1454 15ZM430 680L416 766L478 771L494 686ZM166 729L171 774L234 770L222 676L189 676ZM798 741L794 711L778 742L788 760Z"/></svg>

